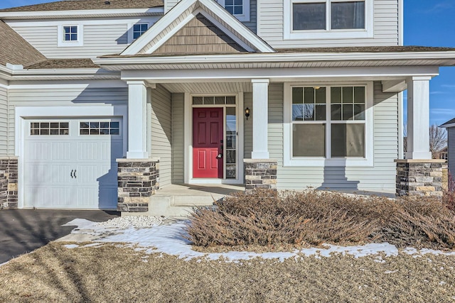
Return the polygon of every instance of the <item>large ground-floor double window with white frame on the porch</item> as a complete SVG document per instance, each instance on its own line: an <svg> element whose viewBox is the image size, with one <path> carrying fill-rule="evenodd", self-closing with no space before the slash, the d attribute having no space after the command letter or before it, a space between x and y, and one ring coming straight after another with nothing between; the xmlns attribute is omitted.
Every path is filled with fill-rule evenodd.
<svg viewBox="0 0 455 303"><path fill-rule="evenodd" d="M367 84L289 85L285 165L370 165L373 97L368 94Z"/></svg>

